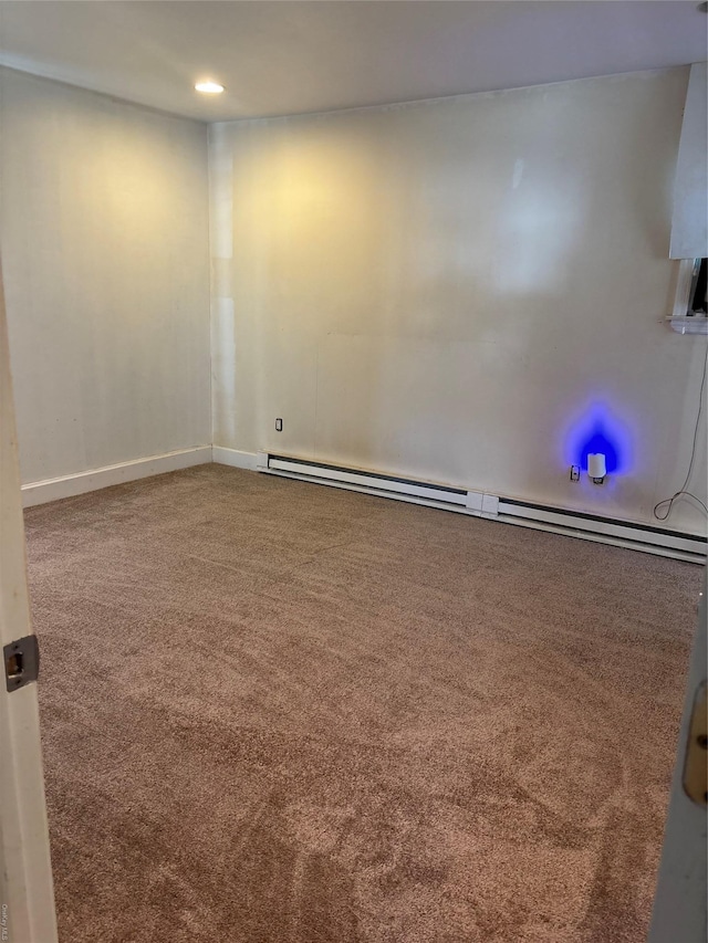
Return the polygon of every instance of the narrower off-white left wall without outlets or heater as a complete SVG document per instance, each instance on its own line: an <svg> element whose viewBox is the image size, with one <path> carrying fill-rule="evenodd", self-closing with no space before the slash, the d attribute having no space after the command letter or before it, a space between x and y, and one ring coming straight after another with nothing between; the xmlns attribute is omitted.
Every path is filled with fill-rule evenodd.
<svg viewBox="0 0 708 943"><path fill-rule="evenodd" d="M207 129L0 70L22 479L211 441Z"/></svg>

